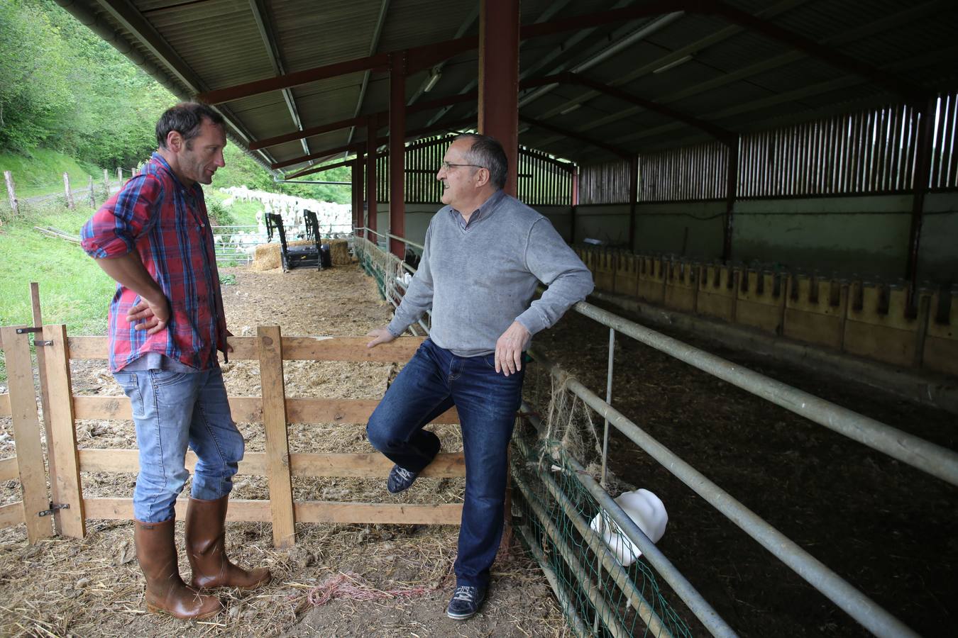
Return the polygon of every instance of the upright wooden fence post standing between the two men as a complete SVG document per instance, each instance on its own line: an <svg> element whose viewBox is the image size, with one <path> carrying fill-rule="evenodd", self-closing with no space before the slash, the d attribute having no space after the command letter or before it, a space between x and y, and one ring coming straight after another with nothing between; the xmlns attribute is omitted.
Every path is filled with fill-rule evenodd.
<svg viewBox="0 0 958 638"><path fill-rule="evenodd" d="M292 479L289 473L289 440L286 435L286 399L283 382L283 341L280 326L258 326L262 425L266 430L266 473L269 511L273 520L273 545L296 543Z"/></svg>

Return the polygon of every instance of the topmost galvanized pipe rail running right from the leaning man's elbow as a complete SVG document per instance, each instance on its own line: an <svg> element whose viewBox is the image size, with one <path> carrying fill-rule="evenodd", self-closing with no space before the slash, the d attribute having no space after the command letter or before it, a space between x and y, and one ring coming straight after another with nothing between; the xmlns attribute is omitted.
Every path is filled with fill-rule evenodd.
<svg viewBox="0 0 958 638"><path fill-rule="evenodd" d="M839 434L888 454L942 480L958 485L958 453L935 445L923 438L892 428L880 421L833 404L791 385L775 381L764 374L699 350L643 325L623 319L591 303L580 301L574 308L585 317L595 319L636 341L673 356L722 381L766 399L776 406L804 416Z"/></svg>

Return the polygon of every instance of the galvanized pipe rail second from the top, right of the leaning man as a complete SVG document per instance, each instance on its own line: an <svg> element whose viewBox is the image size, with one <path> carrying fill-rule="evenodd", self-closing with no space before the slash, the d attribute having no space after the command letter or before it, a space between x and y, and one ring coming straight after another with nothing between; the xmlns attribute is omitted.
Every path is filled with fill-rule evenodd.
<svg viewBox="0 0 958 638"><path fill-rule="evenodd" d="M562 378L563 371L555 363L549 362L545 357L534 354L538 363L542 363L551 374L557 378ZM841 607L846 613L854 618L863 627L876 634L877 636L888 638L901 636L914 636L918 634L906 627L901 621L888 613L868 596L858 591L834 573L821 561L811 556L808 552L798 546L793 540L779 532L768 524L762 517L742 505L736 498L728 494L718 485L709 480L704 474L698 472L691 465L683 461L673 451L652 438L645 430L640 429L634 423L627 419L625 415L614 407L605 403L595 392L582 385L572 377L568 377L564 384L565 388L582 399L588 407L596 410L603 418L608 419L609 423L616 429L625 434L635 445L649 452L659 465L669 472L673 473L680 481L685 483L692 490L704 498L710 505L733 523L738 525L745 534L755 539L765 549L771 552L777 559L783 561L796 574L801 576L806 582L810 583L818 591L825 594L835 605ZM590 476L581 476L582 483L592 480ZM596 491L604 491L596 484ZM589 490L592 492L592 489ZM619 520L616 520L618 523ZM621 523L620 523L621 525ZM636 526L637 529L637 526ZM623 526L623 530L627 530ZM631 530L634 532L635 530ZM641 532L641 530L639 530ZM629 534L629 539L632 539ZM646 552L640 540L644 535L636 535L632 539L639 549ZM651 545L654 547L654 545ZM650 553L650 562L658 570L660 567L652 561ZM663 578L665 574L663 573ZM678 592L676 592L678 593ZM684 600L684 599L683 599Z"/></svg>

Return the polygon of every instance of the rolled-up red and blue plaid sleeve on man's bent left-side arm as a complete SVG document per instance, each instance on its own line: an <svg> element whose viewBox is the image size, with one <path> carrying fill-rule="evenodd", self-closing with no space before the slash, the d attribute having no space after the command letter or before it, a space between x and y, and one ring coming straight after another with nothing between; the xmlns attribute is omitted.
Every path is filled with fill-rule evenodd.
<svg viewBox="0 0 958 638"><path fill-rule="evenodd" d="M83 250L95 259L131 253L136 240L156 223L155 204L163 187L152 175L136 175L93 213L80 230Z"/></svg>

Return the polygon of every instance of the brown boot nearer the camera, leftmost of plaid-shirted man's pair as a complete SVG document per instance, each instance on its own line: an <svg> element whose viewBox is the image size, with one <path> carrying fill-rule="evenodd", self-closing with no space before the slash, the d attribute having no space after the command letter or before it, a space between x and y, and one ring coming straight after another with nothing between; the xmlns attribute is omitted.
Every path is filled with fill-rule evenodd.
<svg viewBox="0 0 958 638"><path fill-rule="evenodd" d="M147 578L147 611L167 613L183 620L216 616L223 606L216 596L206 596L186 586L179 575L174 518L161 523L133 521L136 558Z"/></svg>

